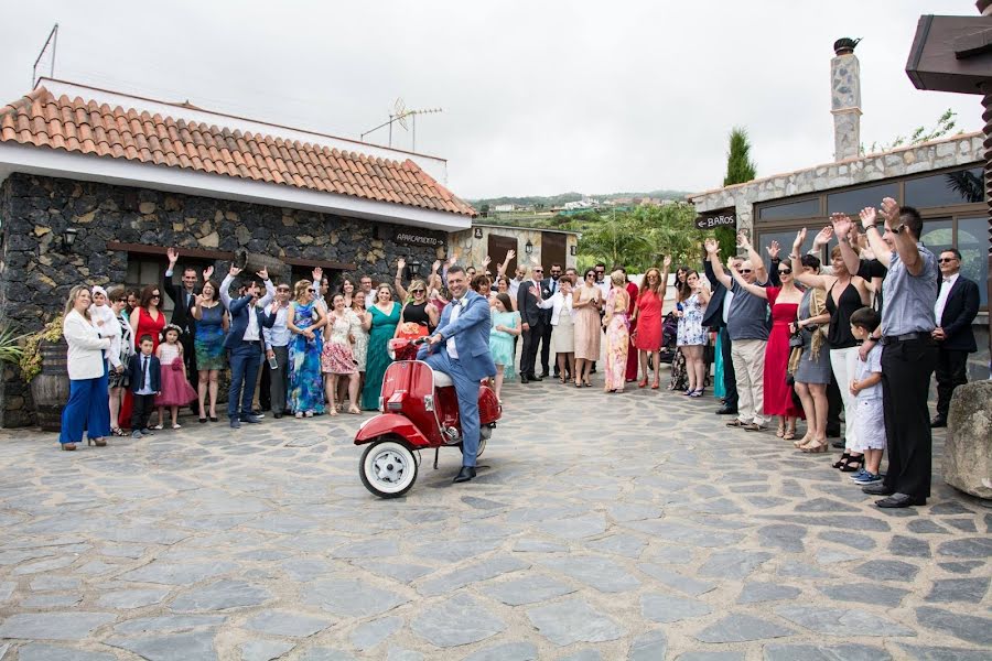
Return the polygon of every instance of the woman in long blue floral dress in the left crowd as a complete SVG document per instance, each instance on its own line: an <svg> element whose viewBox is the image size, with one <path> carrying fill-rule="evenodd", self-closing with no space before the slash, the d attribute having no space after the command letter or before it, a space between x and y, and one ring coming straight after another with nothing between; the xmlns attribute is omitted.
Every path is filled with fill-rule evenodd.
<svg viewBox="0 0 992 661"><path fill-rule="evenodd" d="M321 354L324 349L321 329L327 315L317 302L317 288L310 280L293 286L295 299L285 313L285 327L293 334L289 344L289 408L296 418L311 418L324 412L324 387L321 380ZM333 404L333 402L332 402Z"/></svg>

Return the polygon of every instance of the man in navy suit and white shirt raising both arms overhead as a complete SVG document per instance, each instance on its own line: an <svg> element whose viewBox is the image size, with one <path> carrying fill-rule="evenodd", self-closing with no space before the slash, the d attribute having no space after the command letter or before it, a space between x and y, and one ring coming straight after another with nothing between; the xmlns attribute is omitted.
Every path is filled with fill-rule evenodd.
<svg viewBox="0 0 992 661"><path fill-rule="evenodd" d="M230 314L230 328L224 339L224 347L228 350L230 362L227 416L235 430L240 429L242 422L261 422L251 411L251 399L255 397L255 378L265 355L262 328L271 328L276 322L274 314L266 313L266 305L276 295L276 285L269 280L268 270L262 269L257 273L266 285L266 295L257 303L258 282L255 280L246 285L242 296L231 300L230 285L240 272L241 269L231 264L227 278L220 283L220 301Z"/></svg>

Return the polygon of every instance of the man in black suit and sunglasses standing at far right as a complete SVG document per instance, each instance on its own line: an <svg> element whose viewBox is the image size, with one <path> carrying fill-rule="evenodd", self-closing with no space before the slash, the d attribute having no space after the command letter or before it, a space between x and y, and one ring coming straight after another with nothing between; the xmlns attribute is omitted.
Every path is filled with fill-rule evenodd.
<svg viewBox="0 0 992 661"><path fill-rule="evenodd" d="M948 248L937 260L940 267L940 289L934 316L937 327L937 416L931 427L947 426L947 412L955 388L968 382L968 354L978 350L971 322L978 315L978 283L961 275L961 253Z"/></svg>

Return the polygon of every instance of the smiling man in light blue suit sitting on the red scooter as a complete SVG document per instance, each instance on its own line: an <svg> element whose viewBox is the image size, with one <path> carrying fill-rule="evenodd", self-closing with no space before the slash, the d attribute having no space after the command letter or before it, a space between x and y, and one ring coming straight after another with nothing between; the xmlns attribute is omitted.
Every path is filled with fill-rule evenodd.
<svg viewBox="0 0 992 661"><path fill-rule="evenodd" d="M448 269L451 303L441 313L441 323L420 347L417 359L423 360L454 381L462 423L462 469L455 483L475 477L478 453L478 383L496 373L489 354L489 303L468 289L468 277L462 267ZM440 349L440 350L439 350Z"/></svg>

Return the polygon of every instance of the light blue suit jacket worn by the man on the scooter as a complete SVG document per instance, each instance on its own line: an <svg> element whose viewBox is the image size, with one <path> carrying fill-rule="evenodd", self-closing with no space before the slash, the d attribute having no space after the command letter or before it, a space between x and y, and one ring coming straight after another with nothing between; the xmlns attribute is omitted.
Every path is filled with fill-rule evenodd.
<svg viewBox="0 0 992 661"><path fill-rule="evenodd" d="M470 290L462 296L459 317L452 322L451 311L454 305L452 302L444 306L441 322L433 334L440 335L445 340L454 337L459 347L459 362L465 373L474 381L482 381L496 373L496 364L493 362L493 355L489 353L489 329L493 326L489 302ZM429 345L420 347L417 357L423 358L428 353L438 350L448 350L444 342L433 347Z"/></svg>

